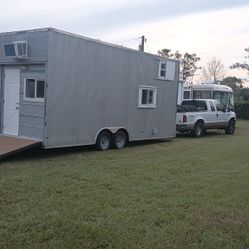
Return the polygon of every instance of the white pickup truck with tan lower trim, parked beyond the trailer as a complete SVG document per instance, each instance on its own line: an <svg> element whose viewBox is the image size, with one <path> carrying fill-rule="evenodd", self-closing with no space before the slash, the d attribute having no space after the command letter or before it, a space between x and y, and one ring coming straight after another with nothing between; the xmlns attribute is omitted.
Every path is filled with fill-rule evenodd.
<svg viewBox="0 0 249 249"><path fill-rule="evenodd" d="M207 129L224 129L226 134L235 131L235 112L213 99L184 100L177 108L176 130L201 137Z"/></svg>

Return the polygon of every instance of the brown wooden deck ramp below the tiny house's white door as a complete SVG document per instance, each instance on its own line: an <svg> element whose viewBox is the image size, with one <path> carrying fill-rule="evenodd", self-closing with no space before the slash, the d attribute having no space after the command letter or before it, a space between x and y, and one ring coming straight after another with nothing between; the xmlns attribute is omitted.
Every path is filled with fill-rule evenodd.
<svg viewBox="0 0 249 249"><path fill-rule="evenodd" d="M41 145L41 141L0 135L0 159L19 151Z"/></svg>

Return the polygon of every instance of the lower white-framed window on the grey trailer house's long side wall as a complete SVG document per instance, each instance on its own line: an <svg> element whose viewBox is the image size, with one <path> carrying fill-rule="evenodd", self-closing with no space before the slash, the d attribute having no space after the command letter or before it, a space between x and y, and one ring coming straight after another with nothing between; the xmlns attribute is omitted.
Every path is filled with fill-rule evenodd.
<svg viewBox="0 0 249 249"><path fill-rule="evenodd" d="M156 107L156 87L139 86L138 107L155 108Z"/></svg>

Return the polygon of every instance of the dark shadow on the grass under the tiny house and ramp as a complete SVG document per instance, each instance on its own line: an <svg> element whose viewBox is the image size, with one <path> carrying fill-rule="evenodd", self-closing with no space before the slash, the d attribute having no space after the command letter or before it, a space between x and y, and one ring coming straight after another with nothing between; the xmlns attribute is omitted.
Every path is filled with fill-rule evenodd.
<svg viewBox="0 0 249 249"><path fill-rule="evenodd" d="M160 144L165 142L171 142L172 139L153 139L153 140L143 140L143 141L133 141L129 142L126 147L133 148L139 146L149 146L153 144ZM113 148L111 150L114 150ZM105 151L97 151L95 145L85 145L85 146L74 146L65 148L55 148L55 149L43 149L41 147L29 148L23 151L19 151L16 154L8 155L0 159L1 162L14 162L14 161L25 161L27 159L49 159L52 157L71 155L79 153L105 153Z"/></svg>

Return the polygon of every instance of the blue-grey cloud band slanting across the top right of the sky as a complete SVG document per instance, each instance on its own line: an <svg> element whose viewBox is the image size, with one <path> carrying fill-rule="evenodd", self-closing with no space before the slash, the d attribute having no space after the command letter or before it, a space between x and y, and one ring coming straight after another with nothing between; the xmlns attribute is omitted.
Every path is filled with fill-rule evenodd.
<svg viewBox="0 0 249 249"><path fill-rule="evenodd" d="M96 11L78 16L73 24L87 33L101 30L117 30L140 23L165 20L186 14L249 6L248 0L183 0L179 4L171 0L136 1L136 4L116 6L114 9Z"/></svg>

